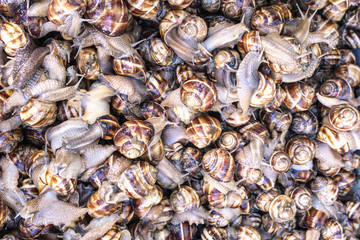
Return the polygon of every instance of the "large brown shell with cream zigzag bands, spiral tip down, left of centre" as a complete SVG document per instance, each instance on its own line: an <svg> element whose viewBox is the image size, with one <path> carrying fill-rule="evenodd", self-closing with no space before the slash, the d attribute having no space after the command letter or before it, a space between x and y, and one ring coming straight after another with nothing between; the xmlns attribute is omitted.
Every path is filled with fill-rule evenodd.
<svg viewBox="0 0 360 240"><path fill-rule="evenodd" d="M127 158L143 155L154 136L154 127L143 120L132 120L123 123L114 135L114 143Z"/></svg>

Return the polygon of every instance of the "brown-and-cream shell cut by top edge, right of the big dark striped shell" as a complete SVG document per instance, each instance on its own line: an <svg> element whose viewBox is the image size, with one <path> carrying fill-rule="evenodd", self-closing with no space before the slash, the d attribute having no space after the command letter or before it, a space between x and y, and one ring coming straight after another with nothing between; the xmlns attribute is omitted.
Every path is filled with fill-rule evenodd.
<svg viewBox="0 0 360 240"><path fill-rule="evenodd" d="M135 17L155 21L161 10L160 0L126 0L129 12Z"/></svg>

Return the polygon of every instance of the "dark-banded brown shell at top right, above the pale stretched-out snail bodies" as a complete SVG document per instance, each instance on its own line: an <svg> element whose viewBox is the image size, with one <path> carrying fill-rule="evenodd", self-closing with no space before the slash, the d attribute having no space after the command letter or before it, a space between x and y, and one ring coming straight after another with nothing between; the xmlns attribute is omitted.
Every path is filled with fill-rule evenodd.
<svg viewBox="0 0 360 240"><path fill-rule="evenodd" d="M252 15L251 27L261 34L273 32L281 34L285 21L291 18L292 13L285 5L264 6Z"/></svg>

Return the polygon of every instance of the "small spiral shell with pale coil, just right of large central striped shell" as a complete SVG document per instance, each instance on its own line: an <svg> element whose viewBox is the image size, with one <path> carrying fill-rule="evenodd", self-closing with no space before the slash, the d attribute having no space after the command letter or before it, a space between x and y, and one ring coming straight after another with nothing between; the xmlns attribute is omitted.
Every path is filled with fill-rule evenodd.
<svg viewBox="0 0 360 240"><path fill-rule="evenodd" d="M230 153L235 152L240 146L245 145L242 141L241 134L235 130L228 130L223 132L216 141L219 148L225 149Z"/></svg>

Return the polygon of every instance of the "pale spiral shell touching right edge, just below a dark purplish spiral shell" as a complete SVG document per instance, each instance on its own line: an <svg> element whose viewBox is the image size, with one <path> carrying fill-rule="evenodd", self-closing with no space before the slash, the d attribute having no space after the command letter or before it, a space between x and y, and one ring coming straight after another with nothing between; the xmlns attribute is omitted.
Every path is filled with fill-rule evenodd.
<svg viewBox="0 0 360 240"><path fill-rule="evenodd" d="M331 126L339 131L351 131L360 124L360 112L350 104L332 106L328 116Z"/></svg>

